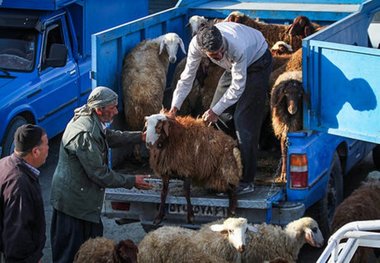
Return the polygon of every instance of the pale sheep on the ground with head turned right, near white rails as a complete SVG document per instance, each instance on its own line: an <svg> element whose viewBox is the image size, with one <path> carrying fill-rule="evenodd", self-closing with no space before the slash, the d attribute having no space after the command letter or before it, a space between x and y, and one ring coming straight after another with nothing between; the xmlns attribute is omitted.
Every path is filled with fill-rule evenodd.
<svg viewBox="0 0 380 263"><path fill-rule="evenodd" d="M310 217L290 222L285 228L265 223L254 226L257 231L247 234L242 262L262 263L276 258L296 262L304 244L321 247L324 242L318 223Z"/></svg>

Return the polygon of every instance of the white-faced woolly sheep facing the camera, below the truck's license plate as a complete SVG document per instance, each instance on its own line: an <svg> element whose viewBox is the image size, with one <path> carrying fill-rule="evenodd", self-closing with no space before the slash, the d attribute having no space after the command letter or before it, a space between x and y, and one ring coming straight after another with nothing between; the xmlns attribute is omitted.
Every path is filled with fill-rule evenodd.
<svg viewBox="0 0 380 263"><path fill-rule="evenodd" d="M200 230L163 226L140 242L138 262L237 262L244 251L248 229L254 230L245 218L228 218Z"/></svg>

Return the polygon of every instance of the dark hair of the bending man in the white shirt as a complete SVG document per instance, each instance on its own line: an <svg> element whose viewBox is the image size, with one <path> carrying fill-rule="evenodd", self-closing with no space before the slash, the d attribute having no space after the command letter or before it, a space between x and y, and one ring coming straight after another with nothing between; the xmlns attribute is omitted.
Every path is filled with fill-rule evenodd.
<svg viewBox="0 0 380 263"><path fill-rule="evenodd" d="M199 47L208 52L218 51L223 45L223 37L216 26L205 25L197 33Z"/></svg>

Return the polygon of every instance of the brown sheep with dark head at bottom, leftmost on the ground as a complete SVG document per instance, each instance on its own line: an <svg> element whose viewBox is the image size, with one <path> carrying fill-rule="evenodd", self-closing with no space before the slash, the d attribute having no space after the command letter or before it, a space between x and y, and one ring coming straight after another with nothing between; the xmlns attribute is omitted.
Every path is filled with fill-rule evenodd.
<svg viewBox="0 0 380 263"><path fill-rule="evenodd" d="M74 257L74 263L137 263L138 248L132 240L116 244L105 237L90 238Z"/></svg>

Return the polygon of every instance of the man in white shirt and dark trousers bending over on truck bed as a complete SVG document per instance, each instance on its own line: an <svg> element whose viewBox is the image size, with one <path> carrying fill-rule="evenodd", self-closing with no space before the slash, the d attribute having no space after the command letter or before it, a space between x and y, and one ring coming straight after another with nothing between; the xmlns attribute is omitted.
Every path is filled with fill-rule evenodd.
<svg viewBox="0 0 380 263"><path fill-rule="evenodd" d="M190 42L186 67L173 93L175 116L189 94L202 57L225 69L213 101L203 114L207 122L233 116L243 161L238 193L253 191L261 125L268 103L272 55L260 31L234 22L206 25Z"/></svg>

